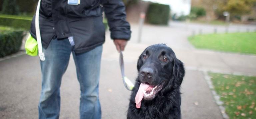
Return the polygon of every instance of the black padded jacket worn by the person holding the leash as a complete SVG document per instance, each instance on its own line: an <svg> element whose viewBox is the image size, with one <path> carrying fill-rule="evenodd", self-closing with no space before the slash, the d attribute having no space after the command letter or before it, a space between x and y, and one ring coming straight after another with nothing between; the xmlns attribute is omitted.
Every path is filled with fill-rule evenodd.
<svg viewBox="0 0 256 119"><path fill-rule="evenodd" d="M102 45L105 29L102 12L105 11L112 39L129 40L131 31L126 21L125 6L121 0L81 0L79 5L68 5L68 0L41 0L39 25L43 48L53 38L73 36L75 53L82 53ZM36 38L35 16L30 34Z"/></svg>

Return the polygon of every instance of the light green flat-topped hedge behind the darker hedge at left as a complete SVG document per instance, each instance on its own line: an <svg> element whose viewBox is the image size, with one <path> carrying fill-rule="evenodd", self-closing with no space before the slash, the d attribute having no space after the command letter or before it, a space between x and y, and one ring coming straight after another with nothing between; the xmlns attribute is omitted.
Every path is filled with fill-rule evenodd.
<svg viewBox="0 0 256 119"><path fill-rule="evenodd" d="M0 25L12 28L22 28L27 31L30 30L31 20L0 18Z"/></svg>

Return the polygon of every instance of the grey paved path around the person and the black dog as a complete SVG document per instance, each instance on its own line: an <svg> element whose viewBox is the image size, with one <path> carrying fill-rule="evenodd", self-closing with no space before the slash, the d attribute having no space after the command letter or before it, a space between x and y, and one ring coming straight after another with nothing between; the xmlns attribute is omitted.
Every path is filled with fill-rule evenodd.
<svg viewBox="0 0 256 119"><path fill-rule="evenodd" d="M256 56L196 50L186 40L187 36L191 35L190 28L193 25L196 27L196 24L191 24L191 27L187 28L182 23L171 23L170 27L145 25L142 42L137 44L137 26L132 24L133 37L124 52L125 73L134 81L137 76L136 62L140 53L149 45L167 43L186 67L186 75L181 86L183 119L220 119L221 112L207 86L203 72L255 75ZM119 55L109 39L109 32L106 33L106 38L100 80L102 118L125 119L130 91L123 86ZM21 55L7 60L0 59L1 119L37 118L40 77L37 57ZM79 84L71 57L62 79L60 119L79 117L79 95Z"/></svg>

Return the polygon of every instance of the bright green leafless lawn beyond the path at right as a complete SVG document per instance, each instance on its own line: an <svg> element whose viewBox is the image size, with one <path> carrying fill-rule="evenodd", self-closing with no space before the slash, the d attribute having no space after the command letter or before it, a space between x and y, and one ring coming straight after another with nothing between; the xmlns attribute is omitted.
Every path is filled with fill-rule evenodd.
<svg viewBox="0 0 256 119"><path fill-rule="evenodd" d="M196 35L188 39L199 49L256 54L256 32Z"/></svg>

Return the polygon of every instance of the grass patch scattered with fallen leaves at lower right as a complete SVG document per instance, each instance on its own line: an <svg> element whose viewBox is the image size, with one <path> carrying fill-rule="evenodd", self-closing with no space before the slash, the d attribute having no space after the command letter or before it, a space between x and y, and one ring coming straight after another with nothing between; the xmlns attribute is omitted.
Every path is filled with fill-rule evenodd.
<svg viewBox="0 0 256 119"><path fill-rule="evenodd" d="M255 119L256 77L209 73L230 119Z"/></svg>

